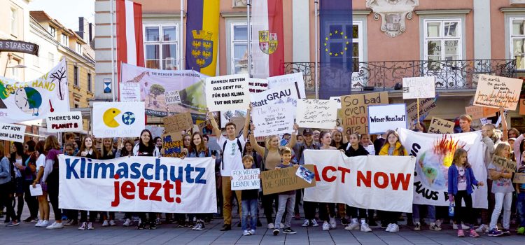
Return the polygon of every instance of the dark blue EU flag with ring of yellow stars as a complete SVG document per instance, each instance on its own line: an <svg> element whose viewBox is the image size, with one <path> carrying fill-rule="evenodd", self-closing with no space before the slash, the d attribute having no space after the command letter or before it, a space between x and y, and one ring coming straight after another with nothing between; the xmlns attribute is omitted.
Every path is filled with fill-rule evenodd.
<svg viewBox="0 0 525 245"><path fill-rule="evenodd" d="M319 17L319 99L350 94L354 59L352 1L321 0Z"/></svg>

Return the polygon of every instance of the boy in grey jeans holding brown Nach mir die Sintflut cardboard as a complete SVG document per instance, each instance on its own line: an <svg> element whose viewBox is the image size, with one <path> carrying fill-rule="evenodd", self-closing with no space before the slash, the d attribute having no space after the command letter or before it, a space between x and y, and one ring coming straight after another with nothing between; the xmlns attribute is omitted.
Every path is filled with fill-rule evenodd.
<svg viewBox="0 0 525 245"><path fill-rule="evenodd" d="M277 165L275 169L284 169L287 167L293 167L291 164L292 160L292 150L288 147L285 147L281 150L282 160L280 165ZM279 209L277 210L277 215L275 216L275 230L274 236L279 235L279 226L281 220L283 219L284 209L286 208L286 218L284 220L284 234L295 234L294 230L290 228L290 223L293 216L293 207L295 207L295 190L286 191L279 193Z"/></svg>

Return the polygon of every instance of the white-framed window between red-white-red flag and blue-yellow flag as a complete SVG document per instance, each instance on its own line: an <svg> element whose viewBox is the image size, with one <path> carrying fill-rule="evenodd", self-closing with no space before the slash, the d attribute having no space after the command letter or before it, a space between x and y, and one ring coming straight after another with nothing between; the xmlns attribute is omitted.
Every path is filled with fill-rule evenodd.
<svg viewBox="0 0 525 245"><path fill-rule="evenodd" d="M176 70L179 57L177 25L144 25L146 67Z"/></svg>

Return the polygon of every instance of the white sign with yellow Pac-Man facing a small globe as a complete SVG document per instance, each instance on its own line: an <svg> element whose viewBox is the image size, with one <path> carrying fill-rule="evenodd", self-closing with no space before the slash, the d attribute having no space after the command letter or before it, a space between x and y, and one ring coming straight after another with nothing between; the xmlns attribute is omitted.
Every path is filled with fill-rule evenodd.
<svg viewBox="0 0 525 245"><path fill-rule="evenodd" d="M93 104L93 134L97 138L139 137L146 123L144 102Z"/></svg>

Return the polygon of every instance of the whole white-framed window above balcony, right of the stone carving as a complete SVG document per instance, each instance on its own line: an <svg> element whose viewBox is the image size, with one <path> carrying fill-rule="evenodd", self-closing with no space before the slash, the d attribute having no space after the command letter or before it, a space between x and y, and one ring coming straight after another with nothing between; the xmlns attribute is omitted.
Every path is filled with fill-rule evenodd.
<svg viewBox="0 0 525 245"><path fill-rule="evenodd" d="M423 25L423 55L429 64L463 58L460 19L425 20Z"/></svg>

